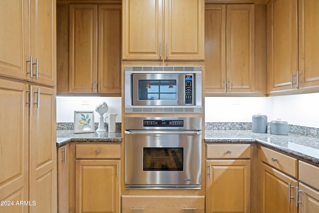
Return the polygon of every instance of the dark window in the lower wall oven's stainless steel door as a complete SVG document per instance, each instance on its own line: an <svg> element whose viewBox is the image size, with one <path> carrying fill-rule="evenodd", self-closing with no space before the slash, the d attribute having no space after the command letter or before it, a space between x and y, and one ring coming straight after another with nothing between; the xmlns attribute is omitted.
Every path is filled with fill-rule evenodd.
<svg viewBox="0 0 319 213"><path fill-rule="evenodd" d="M143 148L143 171L183 171L183 148Z"/></svg>

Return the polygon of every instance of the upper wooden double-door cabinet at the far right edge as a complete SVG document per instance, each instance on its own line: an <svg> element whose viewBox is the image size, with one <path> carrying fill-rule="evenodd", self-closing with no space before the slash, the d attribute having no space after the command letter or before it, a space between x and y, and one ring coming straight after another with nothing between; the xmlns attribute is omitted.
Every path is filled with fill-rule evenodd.
<svg viewBox="0 0 319 213"><path fill-rule="evenodd" d="M267 5L268 93L319 87L318 9L317 0Z"/></svg>

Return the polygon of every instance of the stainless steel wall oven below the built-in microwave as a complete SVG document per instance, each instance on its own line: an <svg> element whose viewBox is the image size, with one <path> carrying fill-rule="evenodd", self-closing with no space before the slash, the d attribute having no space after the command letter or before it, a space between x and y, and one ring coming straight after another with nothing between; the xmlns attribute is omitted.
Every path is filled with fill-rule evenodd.
<svg viewBox="0 0 319 213"><path fill-rule="evenodd" d="M201 118L125 118L126 188L200 188Z"/></svg>

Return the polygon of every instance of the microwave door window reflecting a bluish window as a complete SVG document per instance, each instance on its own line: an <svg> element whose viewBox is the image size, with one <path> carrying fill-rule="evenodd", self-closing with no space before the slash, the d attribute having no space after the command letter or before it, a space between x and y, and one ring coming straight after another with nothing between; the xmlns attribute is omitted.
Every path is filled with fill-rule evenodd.
<svg viewBox="0 0 319 213"><path fill-rule="evenodd" d="M139 80L139 100L176 100L176 80Z"/></svg>

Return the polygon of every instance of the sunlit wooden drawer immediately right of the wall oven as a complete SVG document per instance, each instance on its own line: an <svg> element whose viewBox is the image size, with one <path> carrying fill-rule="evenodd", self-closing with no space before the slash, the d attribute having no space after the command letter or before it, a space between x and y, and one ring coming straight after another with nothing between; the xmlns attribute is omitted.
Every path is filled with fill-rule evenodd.
<svg viewBox="0 0 319 213"><path fill-rule="evenodd" d="M207 144L206 156L210 158L250 158L250 144Z"/></svg>

